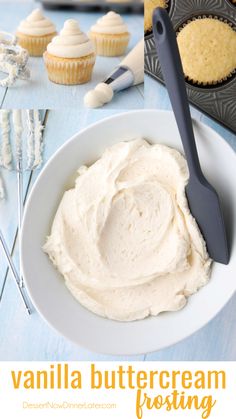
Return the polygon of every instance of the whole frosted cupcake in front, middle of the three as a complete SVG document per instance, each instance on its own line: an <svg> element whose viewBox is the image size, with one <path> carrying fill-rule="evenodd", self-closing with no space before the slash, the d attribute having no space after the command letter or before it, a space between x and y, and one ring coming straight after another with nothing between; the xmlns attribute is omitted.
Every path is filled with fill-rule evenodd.
<svg viewBox="0 0 236 419"><path fill-rule="evenodd" d="M94 46L81 32L76 20L64 23L60 34L53 38L44 53L51 81L58 84L83 84L91 79L95 64Z"/></svg>

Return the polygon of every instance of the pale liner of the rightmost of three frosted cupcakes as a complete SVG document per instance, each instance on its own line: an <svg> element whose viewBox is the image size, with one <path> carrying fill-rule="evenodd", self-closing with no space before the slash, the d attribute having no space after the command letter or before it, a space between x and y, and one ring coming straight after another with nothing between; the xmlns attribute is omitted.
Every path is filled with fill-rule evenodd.
<svg viewBox="0 0 236 419"><path fill-rule="evenodd" d="M129 33L107 35L90 32L89 37L94 44L97 55L105 57L124 55L130 39Z"/></svg>

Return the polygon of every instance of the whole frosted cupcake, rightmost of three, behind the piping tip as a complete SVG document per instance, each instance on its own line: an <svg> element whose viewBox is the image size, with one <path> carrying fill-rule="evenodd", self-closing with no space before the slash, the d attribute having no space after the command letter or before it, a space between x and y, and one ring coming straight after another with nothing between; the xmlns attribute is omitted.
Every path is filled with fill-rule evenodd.
<svg viewBox="0 0 236 419"><path fill-rule="evenodd" d="M91 27L89 37L98 55L116 57L125 53L130 34L122 17L109 12Z"/></svg>

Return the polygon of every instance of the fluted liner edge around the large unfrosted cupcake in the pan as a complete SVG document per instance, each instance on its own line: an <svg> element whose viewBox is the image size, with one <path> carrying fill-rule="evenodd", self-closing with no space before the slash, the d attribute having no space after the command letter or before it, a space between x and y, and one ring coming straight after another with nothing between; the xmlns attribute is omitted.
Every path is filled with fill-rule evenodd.
<svg viewBox="0 0 236 419"><path fill-rule="evenodd" d="M235 0L236 1L236 0ZM228 19L226 19L225 17L219 17L216 15L197 15L197 16L193 16L192 18L189 18L188 20L186 20L184 23L181 24L181 26L178 27L177 31L176 31L176 35L178 36L178 34L181 32L181 30L183 28L185 28L186 25L188 25L189 23L195 21L195 20L200 20L200 19L215 19L215 20L219 20L220 22L223 23L227 23L234 31L236 30L236 27L234 26L234 24L232 22L230 22ZM198 80L194 80L190 77L188 77L187 75L185 75L185 79L187 82L190 82L192 85L196 85L198 87L209 87L209 86L217 86L217 85L221 85L222 83L225 83L229 80L232 79L232 77L236 74L236 69L234 69L233 71L231 71L227 76L217 80L217 81L212 81L212 82L199 82Z"/></svg>

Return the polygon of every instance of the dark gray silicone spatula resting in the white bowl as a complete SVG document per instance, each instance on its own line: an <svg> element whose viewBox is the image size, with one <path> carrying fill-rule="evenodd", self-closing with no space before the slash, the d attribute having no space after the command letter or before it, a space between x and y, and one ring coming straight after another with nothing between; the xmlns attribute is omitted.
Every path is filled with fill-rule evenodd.
<svg viewBox="0 0 236 419"><path fill-rule="evenodd" d="M186 194L190 210L205 238L211 258L227 264L229 251L220 201L216 191L201 171L176 34L168 13L164 9L154 10L153 34L162 74L188 162L190 176Z"/></svg>

